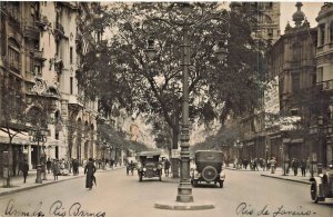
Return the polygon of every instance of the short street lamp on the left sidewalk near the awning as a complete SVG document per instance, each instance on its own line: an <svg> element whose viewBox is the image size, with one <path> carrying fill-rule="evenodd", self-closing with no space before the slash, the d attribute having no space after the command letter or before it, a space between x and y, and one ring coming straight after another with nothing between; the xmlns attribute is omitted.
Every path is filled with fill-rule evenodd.
<svg viewBox="0 0 333 217"><path fill-rule="evenodd" d="M36 129L29 129L28 130L28 135L30 136L29 140L31 142L37 142L37 177L36 177L36 183L37 184L42 183L39 142L46 142L48 134L49 134L49 130L43 129L43 128L36 128Z"/></svg>

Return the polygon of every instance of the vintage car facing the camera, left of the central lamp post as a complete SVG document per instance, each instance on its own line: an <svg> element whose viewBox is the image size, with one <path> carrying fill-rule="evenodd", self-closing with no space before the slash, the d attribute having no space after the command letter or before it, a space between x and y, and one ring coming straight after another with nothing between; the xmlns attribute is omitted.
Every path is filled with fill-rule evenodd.
<svg viewBox="0 0 333 217"><path fill-rule="evenodd" d="M142 181L143 177L158 177L160 181L162 180L162 165L159 160L160 155L160 151L142 151L139 154L139 181Z"/></svg>

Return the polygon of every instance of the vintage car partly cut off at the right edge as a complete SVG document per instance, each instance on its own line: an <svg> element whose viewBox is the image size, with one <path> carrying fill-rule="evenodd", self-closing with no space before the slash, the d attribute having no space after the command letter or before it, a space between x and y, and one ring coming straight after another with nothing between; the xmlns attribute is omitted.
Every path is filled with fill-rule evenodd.
<svg viewBox="0 0 333 217"><path fill-rule="evenodd" d="M333 198L333 162L329 164L327 170L310 178L311 199L314 203L325 201L325 198Z"/></svg>

